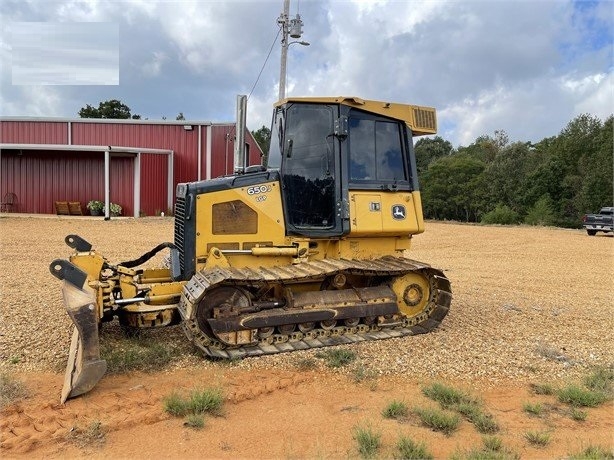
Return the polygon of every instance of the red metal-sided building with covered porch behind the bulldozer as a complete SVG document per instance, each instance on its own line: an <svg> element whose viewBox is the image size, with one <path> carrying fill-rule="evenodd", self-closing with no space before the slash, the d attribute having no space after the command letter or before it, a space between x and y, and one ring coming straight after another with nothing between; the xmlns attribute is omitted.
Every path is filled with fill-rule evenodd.
<svg viewBox="0 0 614 460"><path fill-rule="evenodd" d="M235 124L200 121L0 118L0 197L12 212L55 214L56 201L172 210L175 186L233 172ZM248 164L262 151L246 130ZM108 196L107 196L108 193Z"/></svg>

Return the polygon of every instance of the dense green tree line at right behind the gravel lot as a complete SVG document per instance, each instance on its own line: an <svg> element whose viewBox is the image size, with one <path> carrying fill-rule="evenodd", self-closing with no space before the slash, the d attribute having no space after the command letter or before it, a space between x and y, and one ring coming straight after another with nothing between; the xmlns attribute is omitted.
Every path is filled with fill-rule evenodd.
<svg viewBox="0 0 614 460"><path fill-rule="evenodd" d="M577 228L613 201L614 117L579 115L557 135L510 143L505 131L456 149L421 138L415 153L429 219Z"/></svg>

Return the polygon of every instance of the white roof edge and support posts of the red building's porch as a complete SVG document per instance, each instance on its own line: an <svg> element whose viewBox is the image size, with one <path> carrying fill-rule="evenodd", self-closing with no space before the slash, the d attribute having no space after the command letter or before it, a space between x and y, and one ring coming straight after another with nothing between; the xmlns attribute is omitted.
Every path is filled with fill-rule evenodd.
<svg viewBox="0 0 614 460"><path fill-rule="evenodd" d="M173 150L152 149L140 147L122 147L119 145L75 145L75 144L0 144L0 156L2 150L56 150L77 152L100 152L104 153L104 200L105 219L109 219L109 203L111 201L110 190L110 164L111 153L128 153L134 155L134 217L139 217L141 208L141 153L153 153L167 155L167 209L173 209Z"/></svg>

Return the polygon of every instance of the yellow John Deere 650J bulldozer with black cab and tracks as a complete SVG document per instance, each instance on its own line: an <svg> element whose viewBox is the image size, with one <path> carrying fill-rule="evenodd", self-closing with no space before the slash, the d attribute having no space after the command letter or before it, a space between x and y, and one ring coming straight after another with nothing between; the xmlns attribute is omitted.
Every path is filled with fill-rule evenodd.
<svg viewBox="0 0 614 460"><path fill-rule="evenodd" d="M424 231L412 138L436 128L429 107L284 99L261 165L239 147L233 175L177 185L174 242L114 265L67 236L74 253L50 265L75 325L62 402L105 373L107 321L181 324L204 355L232 359L436 328L450 283L406 257ZM139 268L166 249L167 266Z"/></svg>

